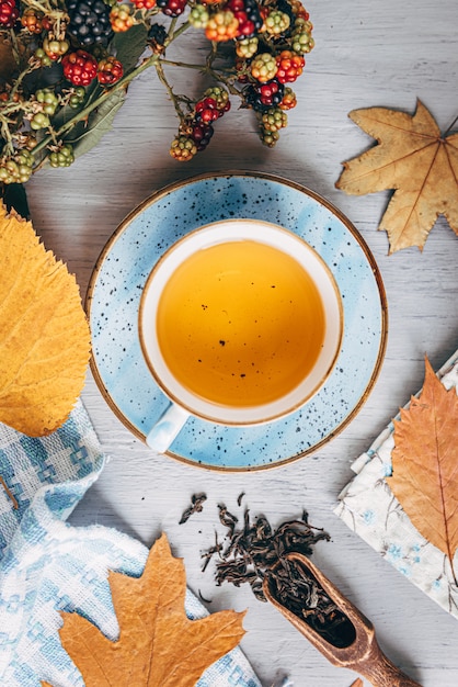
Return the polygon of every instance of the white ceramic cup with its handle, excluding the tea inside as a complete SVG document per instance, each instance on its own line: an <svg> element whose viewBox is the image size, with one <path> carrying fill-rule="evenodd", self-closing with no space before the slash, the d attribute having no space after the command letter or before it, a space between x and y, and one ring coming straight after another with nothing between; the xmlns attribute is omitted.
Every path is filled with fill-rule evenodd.
<svg viewBox="0 0 458 687"><path fill-rule="evenodd" d="M185 387L170 370L158 341L159 303L172 274L196 251L230 241L254 241L290 256L311 278L324 312L324 336L312 369L280 397L255 405L215 403ZM237 308L237 303L231 303ZM260 425L279 419L309 401L333 370L343 336L341 296L318 252L302 238L278 225L257 219L227 219L205 225L173 244L156 263L145 285L139 307L139 338L147 365L170 405L147 435L147 444L165 452L190 416L224 426Z"/></svg>

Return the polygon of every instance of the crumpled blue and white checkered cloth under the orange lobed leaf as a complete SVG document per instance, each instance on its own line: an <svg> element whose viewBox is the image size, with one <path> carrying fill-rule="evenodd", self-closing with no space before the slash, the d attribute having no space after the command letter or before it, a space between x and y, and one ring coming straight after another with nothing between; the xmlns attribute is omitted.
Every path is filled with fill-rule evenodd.
<svg viewBox="0 0 458 687"><path fill-rule="evenodd" d="M31 439L0 425L0 685L83 687L64 651L59 610L77 611L111 640L118 635L107 571L138 576L148 549L102 526L71 527L67 518L103 469L83 405L51 436ZM4 487L8 487L7 488ZM186 612L206 609L191 593ZM236 649L210 666L196 687L261 687ZM133 686L134 687L134 686Z"/></svg>

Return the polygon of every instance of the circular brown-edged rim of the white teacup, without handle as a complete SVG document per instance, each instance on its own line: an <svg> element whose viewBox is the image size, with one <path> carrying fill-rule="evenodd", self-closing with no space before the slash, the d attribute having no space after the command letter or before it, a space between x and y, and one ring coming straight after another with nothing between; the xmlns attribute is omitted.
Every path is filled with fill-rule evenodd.
<svg viewBox="0 0 458 687"><path fill-rule="evenodd" d="M238 419L234 419L234 417L230 417L230 416L226 416L224 417L224 414L221 413L220 415L217 414L217 409L221 409L224 408L225 410L228 409L228 406L225 405L220 405L217 403L211 403L209 401L202 401L198 396L196 396L195 394L193 394L192 392L186 392L186 390L180 384L179 381L176 381L178 386L184 392L184 397L185 399L183 399L183 396L180 393L176 393L175 391L173 391L173 388L170 387L170 384L164 383L161 374L158 372L157 367L154 364L154 362L151 360L151 357L149 354L149 349L148 349L148 345L146 342L146 337L144 336L144 325L142 325L142 318L144 318L144 313L145 313L145 303L147 301L148 297L148 293L150 291L150 286L151 283L154 281L154 279L157 279L158 273L160 272L161 269L163 269L163 266L169 261L169 259L171 258L171 256L173 254L175 254L178 250L180 250L182 248L183 245L191 243L193 240L195 240L196 237L198 236L203 236L204 234L207 233L211 233L211 230L219 226L219 225L262 225L263 227L266 227L267 232L271 232L273 234L276 234L278 237L279 236L287 236L289 241L295 243L297 246L300 246L301 250L302 250L302 255L305 254L305 251L308 252L309 256L312 256L314 262L320 266L320 269L322 270L323 273L325 273L327 278L328 278L328 282L329 284L332 286L332 291L333 291L333 295L335 296L335 305L336 305L336 311L339 313L339 327L337 327L337 331L334 333L334 339L333 339L333 346L332 346L332 356L329 356L328 359L328 364L325 367L325 369L323 370L322 374L320 375L320 379L312 385L311 388L309 388L307 391L307 393L302 394L300 396L300 398L298 398L297 401L295 401L294 403L289 403L287 405L287 407L284 407L282 409L274 409L275 406L277 406L283 399L288 398L290 395L293 395L293 393L301 385L304 384L305 380L308 379L309 375L307 375L304 380L301 380L291 392L288 392L287 394L284 394L283 396L280 396L279 399L275 399L274 402L268 402L265 404L259 404L255 406L237 406L236 409L229 407L229 415L230 416L247 416L249 415L249 418L243 418L243 417L239 417ZM213 244L208 243L205 245L205 247L209 247L211 245L217 245L217 244L221 244L221 243L227 243L229 240L243 240L245 239L247 236L241 236L240 234L236 234L234 236L225 236L224 238L219 238L217 240L215 240ZM249 238L252 238L251 236ZM276 245L275 243L271 243L268 240L263 240L262 237L256 236L253 238L253 240L257 241L257 243L264 243L266 245L273 245L275 248L278 248L279 250L282 250L282 248ZM283 250L284 252L286 252L287 255L290 255L291 257L296 258L296 256L293 256L290 252L288 252L287 250ZM191 254L187 254L187 256ZM304 264L298 260L299 264L302 266ZM304 268L306 269L306 268ZM145 286L142 289L141 295L140 295L140 301L139 301L139 309L138 309L138 336L139 336L139 341L140 341L140 349L145 359L145 362L147 364L148 370L150 371L150 373L152 374L157 385L159 386L159 388L162 391L162 393L174 404L176 404L178 406L182 407L183 409L185 409L191 416L203 419L203 420L207 420L209 423L216 424L216 425L221 425L221 426L227 426L227 427L243 427L243 426L259 426L259 425L263 425L263 424L267 424L277 419L282 419L293 413L295 413L296 410L298 410L301 406L304 406L308 401L310 401L318 392L320 388L322 388L322 386L325 384L327 380L329 379L332 370L334 369L335 362L337 360L339 353L340 353L340 349L342 346L342 339L343 339L343 331L344 331L344 316L343 316L343 304L342 304L342 297L341 297L341 293L335 280L334 274L332 273L330 267L327 264L327 262L324 261L324 259L320 256L320 254L309 244L307 243L301 236L295 234L294 232L291 232L290 229L279 225L279 224L275 224L273 222L267 222L264 219L254 219L251 217L230 217L230 218L224 218L224 219L218 219L215 222L210 222L207 224L204 224L202 226L198 226L192 230L190 230L187 234L185 234L184 236L181 236L176 241L174 241L171 246L169 246L159 257L159 259L157 260L157 262L154 263L154 266L152 267L146 282L145 282ZM154 329L156 329L156 324L154 324ZM159 349L159 346L158 346ZM160 354L160 357L162 358L162 356ZM167 368L167 363L162 360L162 363L164 364L164 367ZM169 371L170 372L170 371ZM172 378L174 378L174 375L170 372L170 375ZM175 379L175 378L174 378ZM205 407L207 407L208 412L203 412L202 409L196 409L196 407L190 403L188 398L193 397L193 399L195 398L197 401L198 404L203 404ZM187 401L186 401L187 398ZM211 409L215 409L215 413L211 412ZM253 408L256 409L263 409L263 415L261 416L256 416L255 418L251 417L252 413L250 413L250 410L253 410Z"/></svg>

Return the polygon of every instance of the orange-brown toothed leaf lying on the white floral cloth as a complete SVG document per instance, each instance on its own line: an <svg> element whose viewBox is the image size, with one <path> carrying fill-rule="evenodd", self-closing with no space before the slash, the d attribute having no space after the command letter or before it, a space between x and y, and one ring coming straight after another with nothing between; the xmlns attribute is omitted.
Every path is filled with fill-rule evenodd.
<svg viewBox="0 0 458 687"><path fill-rule="evenodd" d="M394 421L391 491L419 532L450 561L458 549L458 396L427 358L420 397Z"/></svg>

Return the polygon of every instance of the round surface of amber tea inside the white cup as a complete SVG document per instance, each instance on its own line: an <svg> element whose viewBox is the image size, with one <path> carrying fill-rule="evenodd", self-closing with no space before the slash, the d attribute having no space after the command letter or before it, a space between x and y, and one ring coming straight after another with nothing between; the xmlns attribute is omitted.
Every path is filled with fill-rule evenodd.
<svg viewBox="0 0 458 687"><path fill-rule="evenodd" d="M260 405L293 391L317 362L324 333L310 274L291 256L254 240L193 254L158 303L158 345L169 370L219 405Z"/></svg>

